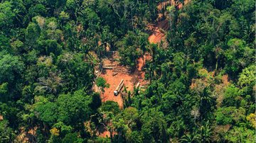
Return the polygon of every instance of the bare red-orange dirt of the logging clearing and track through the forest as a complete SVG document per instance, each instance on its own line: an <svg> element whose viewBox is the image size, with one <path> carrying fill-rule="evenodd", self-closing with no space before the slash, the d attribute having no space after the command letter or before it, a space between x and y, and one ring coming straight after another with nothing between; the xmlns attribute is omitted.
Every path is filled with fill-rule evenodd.
<svg viewBox="0 0 256 143"><path fill-rule="evenodd" d="M188 0L189 1L189 0ZM172 0L172 3L174 4L174 0ZM164 2L164 5L168 5L169 1ZM186 1L185 1L186 4ZM182 5L179 5L179 8L181 8ZM157 6L159 11L161 10L162 6L159 4ZM162 13L159 13L159 19L163 16ZM149 30L153 31L153 33L149 36L149 42L150 43L159 43L161 40L164 40L165 34L163 33L163 30L167 30L169 28L168 21L160 21L156 25L149 24L147 25ZM138 83L138 81L141 83L141 85L146 85L147 81L144 80L145 72L142 71L144 64L146 61L151 60L151 56L146 53L144 57L140 57L137 60L137 69L135 69L134 73L132 74L123 74L122 72L119 72L116 76L112 76L112 69L105 69L102 71L102 74L100 75L103 77L107 84L110 84L110 88L105 88L105 92L101 94L102 102L105 101L115 101L118 103L120 108L123 108L123 100L121 95L114 96L114 89L117 87L119 82L124 79L124 85L127 87L128 91L132 91L133 87ZM103 64L118 64L118 62L112 62L110 59L105 59ZM99 137L110 137L110 132L105 130L104 127L101 132L98 132Z"/></svg>

